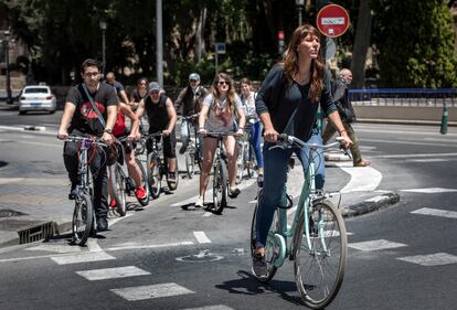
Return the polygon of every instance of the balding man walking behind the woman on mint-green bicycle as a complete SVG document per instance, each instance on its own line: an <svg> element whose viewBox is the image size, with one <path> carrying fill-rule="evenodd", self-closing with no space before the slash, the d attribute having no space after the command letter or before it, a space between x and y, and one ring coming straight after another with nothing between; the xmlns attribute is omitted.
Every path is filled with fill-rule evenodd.
<svg viewBox="0 0 457 310"><path fill-rule="evenodd" d="M344 126L344 129L348 131L349 138L352 140L353 145L351 147L352 161L354 167L366 167L371 162L362 159L360 153L359 142L355 137L354 129L351 126L351 122L355 121L355 113L352 107L351 101L348 96L348 86L352 82L352 72L348 68L342 68L339 74L339 78L333 84L333 100L337 105L338 113L340 114L341 121ZM323 131L323 143L326 145L331 137L334 135L336 129L331 125L326 126Z"/></svg>

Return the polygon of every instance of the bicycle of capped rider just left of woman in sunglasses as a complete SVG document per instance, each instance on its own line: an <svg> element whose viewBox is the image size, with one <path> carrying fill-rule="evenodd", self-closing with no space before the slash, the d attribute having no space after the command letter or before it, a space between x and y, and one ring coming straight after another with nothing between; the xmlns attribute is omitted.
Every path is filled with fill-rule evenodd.
<svg viewBox="0 0 457 310"><path fill-rule="evenodd" d="M187 121L188 132L189 132L189 146L185 151L185 171L190 179L192 179L193 174L196 171L196 167L199 168L200 172L202 171L202 158L201 158L201 146L199 140L199 133L196 130L196 126L192 124L199 115L194 114L191 116L183 116L182 120ZM192 130L193 129L193 130ZM191 136L191 131L193 131L193 137Z"/></svg>

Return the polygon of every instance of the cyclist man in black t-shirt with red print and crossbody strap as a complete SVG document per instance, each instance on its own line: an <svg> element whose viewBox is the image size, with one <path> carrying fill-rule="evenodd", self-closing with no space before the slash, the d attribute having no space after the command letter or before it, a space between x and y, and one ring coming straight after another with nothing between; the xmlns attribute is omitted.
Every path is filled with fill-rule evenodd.
<svg viewBox="0 0 457 310"><path fill-rule="evenodd" d="M70 89L65 100L64 113L57 138L66 140L68 133L81 136L91 135L102 137L106 145L114 142L111 130L116 122L118 98L115 88L99 83L99 63L96 60L86 60L81 66L83 83ZM85 88L85 89L84 89ZM102 124L97 113L92 106L92 101L103 116L105 125ZM64 163L72 182L72 191L68 199L74 199L73 190L78 183L78 147L75 142L65 142ZM89 151L92 153L92 151ZM94 209L97 218L97 229L108 228L108 177L106 172L106 151L99 149L94 151L91 159L91 171L94 178Z"/></svg>

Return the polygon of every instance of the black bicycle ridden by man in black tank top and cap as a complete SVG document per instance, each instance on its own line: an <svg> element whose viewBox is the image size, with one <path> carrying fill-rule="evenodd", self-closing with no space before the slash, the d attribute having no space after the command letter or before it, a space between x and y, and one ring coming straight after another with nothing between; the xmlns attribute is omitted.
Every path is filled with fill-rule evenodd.
<svg viewBox="0 0 457 310"><path fill-rule="evenodd" d="M178 169L174 171L174 180L170 180L168 163L161 156L162 150L162 132L155 132L146 137L146 143L150 145L150 153L147 157L147 175L150 194L153 199L160 196L162 178L166 175L169 190L174 191L178 188L179 174ZM178 168L178 167L177 167Z"/></svg>

